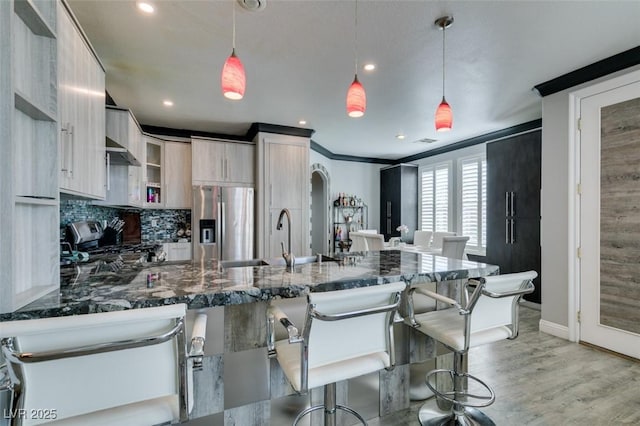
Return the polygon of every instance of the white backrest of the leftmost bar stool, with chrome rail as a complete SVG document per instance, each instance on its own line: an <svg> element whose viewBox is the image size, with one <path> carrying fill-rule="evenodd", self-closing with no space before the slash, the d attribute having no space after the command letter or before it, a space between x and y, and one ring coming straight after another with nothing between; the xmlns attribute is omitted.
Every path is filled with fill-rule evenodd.
<svg viewBox="0 0 640 426"><path fill-rule="evenodd" d="M58 420L146 401L169 398L184 410L186 385L184 304L0 323L10 374L20 377L19 406L55 408ZM87 355L23 362L11 353L44 355L145 339L177 331L163 343ZM34 356L34 358L37 358ZM181 360L182 359L182 360ZM182 395L182 396L180 396ZM180 400L182 400L182 403ZM182 407L178 407L182 405ZM184 415L184 412L181 414ZM183 417L184 420L186 418ZM25 419L23 424L36 424Z"/></svg>

